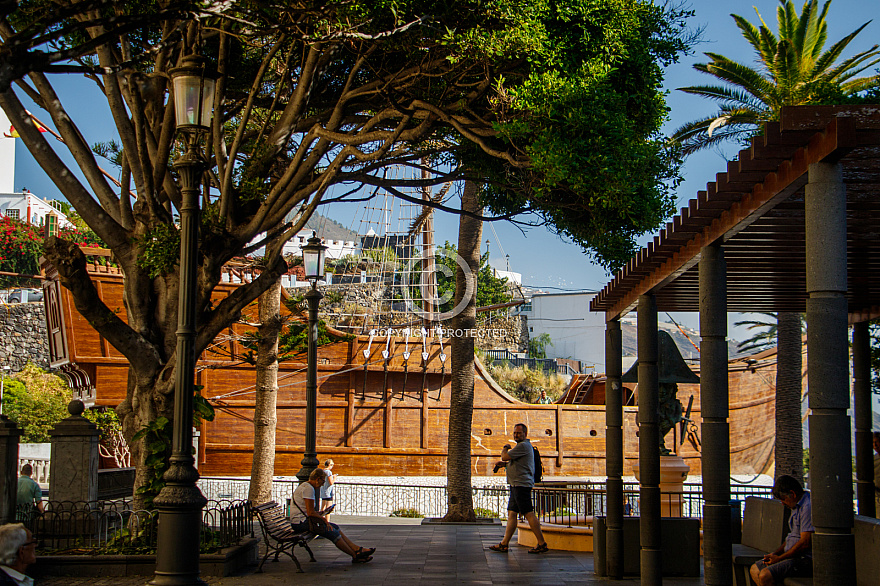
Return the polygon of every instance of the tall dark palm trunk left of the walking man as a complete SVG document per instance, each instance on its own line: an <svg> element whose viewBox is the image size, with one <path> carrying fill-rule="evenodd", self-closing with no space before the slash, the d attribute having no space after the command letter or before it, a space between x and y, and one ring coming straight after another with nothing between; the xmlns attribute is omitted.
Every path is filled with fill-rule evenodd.
<svg viewBox="0 0 880 586"><path fill-rule="evenodd" d="M480 213L477 186L471 181L464 184L461 196L464 211ZM468 267L467 273L459 265L455 270L455 306L465 295L467 304L461 313L453 316L452 329L469 331L477 324L477 274L480 270L481 220L460 216L458 224L458 254ZM470 283L469 283L470 282ZM471 435L474 417L474 339L455 336L452 347L452 393L449 405L449 444L446 464L448 509L444 521L476 521L471 489Z"/></svg>

